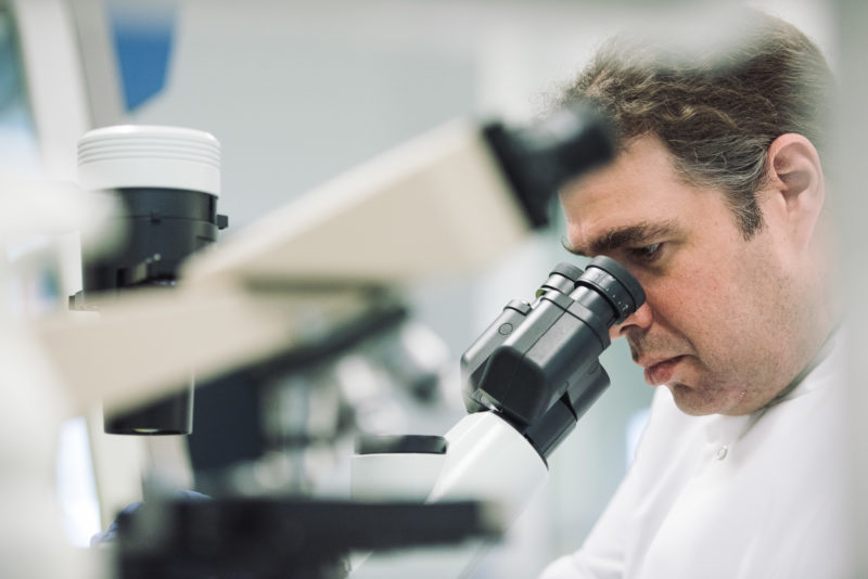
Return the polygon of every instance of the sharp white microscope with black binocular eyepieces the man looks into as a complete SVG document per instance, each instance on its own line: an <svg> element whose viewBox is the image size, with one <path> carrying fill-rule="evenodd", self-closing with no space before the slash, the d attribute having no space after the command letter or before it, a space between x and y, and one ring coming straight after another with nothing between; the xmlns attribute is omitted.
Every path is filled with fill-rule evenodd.
<svg viewBox="0 0 868 579"><path fill-rule="evenodd" d="M599 362L609 329L643 303L639 283L611 258L584 272L559 263L534 301L507 304L461 357L469 415L442 438L361 440L354 498L494 500L511 525L545 484L547 458L609 387ZM477 550L452 553L443 577L463 576ZM360 569L352 577L369 577Z"/></svg>

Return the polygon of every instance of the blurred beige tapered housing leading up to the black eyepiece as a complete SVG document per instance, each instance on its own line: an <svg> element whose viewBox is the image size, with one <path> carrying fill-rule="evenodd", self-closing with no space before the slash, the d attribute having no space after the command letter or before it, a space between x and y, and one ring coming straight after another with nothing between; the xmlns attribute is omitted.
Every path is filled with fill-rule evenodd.
<svg viewBox="0 0 868 579"><path fill-rule="evenodd" d="M181 278L396 284L475 272L531 229L481 130L388 151L193 256Z"/></svg>

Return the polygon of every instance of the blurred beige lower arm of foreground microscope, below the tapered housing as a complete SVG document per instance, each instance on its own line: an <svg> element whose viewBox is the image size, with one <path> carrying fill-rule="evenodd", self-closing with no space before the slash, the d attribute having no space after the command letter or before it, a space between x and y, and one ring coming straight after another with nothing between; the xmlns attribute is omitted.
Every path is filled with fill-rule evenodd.
<svg viewBox="0 0 868 579"><path fill-rule="evenodd" d="M66 387L73 415L102 401L123 412L189 383L304 347L342 320L362 316L358 291L264 294L225 285L208 291L140 290L104 303L99 314L74 312L28 329Z"/></svg>

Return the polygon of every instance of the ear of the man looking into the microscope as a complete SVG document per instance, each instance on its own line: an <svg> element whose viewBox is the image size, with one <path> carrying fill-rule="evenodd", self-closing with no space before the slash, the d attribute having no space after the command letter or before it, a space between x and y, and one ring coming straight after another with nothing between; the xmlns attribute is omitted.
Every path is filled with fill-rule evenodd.
<svg viewBox="0 0 868 579"><path fill-rule="evenodd" d="M777 209L793 241L807 245L826 197L817 150L801 134L781 134L768 147L767 168L766 190L771 198L765 201Z"/></svg>

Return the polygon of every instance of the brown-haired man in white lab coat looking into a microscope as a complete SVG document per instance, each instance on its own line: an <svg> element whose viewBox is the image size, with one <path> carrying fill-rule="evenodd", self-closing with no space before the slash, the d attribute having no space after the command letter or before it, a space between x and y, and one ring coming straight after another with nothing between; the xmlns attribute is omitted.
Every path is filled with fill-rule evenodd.
<svg viewBox="0 0 868 579"><path fill-rule="evenodd" d="M789 24L751 12L741 33L687 56L616 37L566 93L621 140L563 189L566 245L642 284L612 336L658 390L630 472L545 579L852 576L821 164L833 81Z"/></svg>

